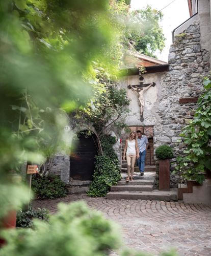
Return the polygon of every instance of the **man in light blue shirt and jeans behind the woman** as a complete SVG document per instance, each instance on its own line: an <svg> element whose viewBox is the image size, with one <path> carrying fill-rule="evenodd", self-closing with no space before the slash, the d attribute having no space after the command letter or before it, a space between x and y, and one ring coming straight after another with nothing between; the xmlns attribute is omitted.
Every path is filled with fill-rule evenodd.
<svg viewBox="0 0 211 256"><path fill-rule="evenodd" d="M139 148L139 159L138 159L138 165L139 170L141 173L141 176L144 175L144 165L145 165L145 158L146 158L146 150L149 146L148 139L145 135L142 135L141 131L137 131L137 142L138 142L138 148Z"/></svg>

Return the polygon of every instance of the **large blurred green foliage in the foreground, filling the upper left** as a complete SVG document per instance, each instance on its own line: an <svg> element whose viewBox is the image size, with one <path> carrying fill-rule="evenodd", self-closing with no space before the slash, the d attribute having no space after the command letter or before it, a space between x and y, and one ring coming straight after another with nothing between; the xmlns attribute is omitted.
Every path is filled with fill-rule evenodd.
<svg viewBox="0 0 211 256"><path fill-rule="evenodd" d="M9 170L67 148L66 113L92 97L96 63L115 71L122 25L111 13L107 0L0 1L0 216L28 200Z"/></svg>

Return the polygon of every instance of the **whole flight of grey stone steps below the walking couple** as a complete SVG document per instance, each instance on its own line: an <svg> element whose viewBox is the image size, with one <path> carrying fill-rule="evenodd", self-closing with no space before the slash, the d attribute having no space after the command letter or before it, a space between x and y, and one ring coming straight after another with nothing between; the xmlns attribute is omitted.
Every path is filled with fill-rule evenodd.
<svg viewBox="0 0 211 256"><path fill-rule="evenodd" d="M159 201L176 201L177 189L170 191L160 191L154 189L155 172L146 172L140 176L135 172L134 181L126 182L126 174L122 174L122 179L117 185L111 187L107 194L107 199L127 199L127 200L159 200Z"/></svg>

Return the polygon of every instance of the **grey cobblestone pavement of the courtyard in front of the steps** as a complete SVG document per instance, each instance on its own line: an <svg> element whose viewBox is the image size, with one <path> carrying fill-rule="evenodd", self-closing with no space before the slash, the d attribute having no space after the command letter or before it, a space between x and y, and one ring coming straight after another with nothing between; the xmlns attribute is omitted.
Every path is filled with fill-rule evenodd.
<svg viewBox="0 0 211 256"><path fill-rule="evenodd" d="M85 200L119 223L126 247L158 255L176 248L179 255L211 255L211 206L146 200L107 200L69 195L34 201L34 207L57 211L57 203ZM116 254L115 254L116 255Z"/></svg>

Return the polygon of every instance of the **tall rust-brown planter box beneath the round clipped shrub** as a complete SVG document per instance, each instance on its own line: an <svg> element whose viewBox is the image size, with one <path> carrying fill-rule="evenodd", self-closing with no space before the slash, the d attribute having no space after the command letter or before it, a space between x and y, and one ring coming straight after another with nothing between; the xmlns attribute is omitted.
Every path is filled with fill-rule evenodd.
<svg viewBox="0 0 211 256"><path fill-rule="evenodd" d="M159 190L170 190L170 161L159 160Z"/></svg>

